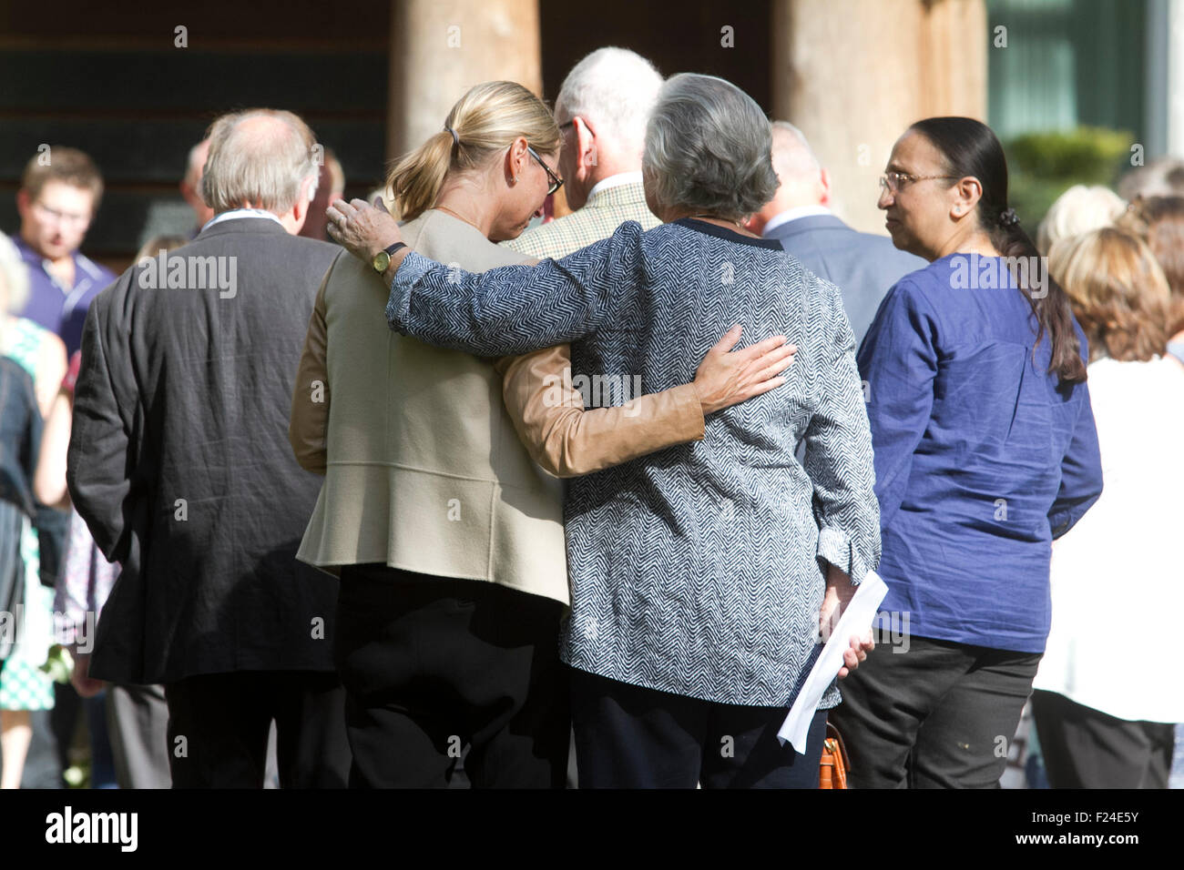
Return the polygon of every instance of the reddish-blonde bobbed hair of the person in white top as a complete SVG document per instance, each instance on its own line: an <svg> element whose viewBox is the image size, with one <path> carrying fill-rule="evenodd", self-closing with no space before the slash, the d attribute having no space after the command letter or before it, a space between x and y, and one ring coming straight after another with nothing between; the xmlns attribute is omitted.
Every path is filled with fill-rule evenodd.
<svg viewBox="0 0 1184 870"><path fill-rule="evenodd" d="M1092 357L1146 361L1167 347L1167 278L1144 241L1102 227L1061 239L1049 270L1069 295Z"/></svg>

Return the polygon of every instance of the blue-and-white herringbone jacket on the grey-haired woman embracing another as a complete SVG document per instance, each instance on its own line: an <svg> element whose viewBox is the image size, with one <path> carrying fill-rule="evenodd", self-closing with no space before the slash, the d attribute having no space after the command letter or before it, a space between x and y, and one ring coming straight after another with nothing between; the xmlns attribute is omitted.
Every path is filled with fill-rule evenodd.
<svg viewBox="0 0 1184 870"><path fill-rule="evenodd" d="M700 442L568 483L561 655L649 689L791 703L816 650L824 562L858 582L880 559L871 437L837 288L773 240L629 221L534 268L450 273L411 253L387 320L485 355L567 341L575 376L641 375L646 392L689 381L734 323L745 344L787 335L798 353L784 386L712 414ZM821 707L836 703L832 685Z"/></svg>

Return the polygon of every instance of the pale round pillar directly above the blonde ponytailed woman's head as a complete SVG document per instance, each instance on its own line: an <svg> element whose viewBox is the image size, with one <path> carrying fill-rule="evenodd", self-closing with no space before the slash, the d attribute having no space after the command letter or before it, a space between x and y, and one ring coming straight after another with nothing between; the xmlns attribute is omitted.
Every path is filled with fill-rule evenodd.
<svg viewBox="0 0 1184 870"><path fill-rule="evenodd" d="M495 79L542 95L539 0L392 0L387 159L442 130L469 88Z"/></svg>

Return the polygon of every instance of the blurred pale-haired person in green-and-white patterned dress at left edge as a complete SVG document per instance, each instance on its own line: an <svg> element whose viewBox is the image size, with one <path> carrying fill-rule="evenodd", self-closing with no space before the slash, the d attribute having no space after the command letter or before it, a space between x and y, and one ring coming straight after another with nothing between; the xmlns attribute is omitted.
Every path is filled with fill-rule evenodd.
<svg viewBox="0 0 1184 870"><path fill-rule="evenodd" d="M43 419L53 401L54 384L60 384L65 374L65 348L62 340L49 329L31 320L17 316L26 310L31 292L30 272L21 262L21 252L6 236L0 234L0 356L15 362L28 375L37 400L37 418L30 437L34 443L28 446L26 463L30 470L36 469L37 455L40 450ZM9 378L11 381L11 378ZM19 411L19 408L18 408ZM24 428L24 427L22 427ZM13 631L13 645L5 656L5 666L0 671L0 745L4 752L4 772L0 775L0 787L17 788L21 785L25 762L33 740L33 729L40 732L39 769L36 781L26 785L57 786L60 769L50 773L53 767L53 735L49 728L49 718L33 717L34 711L52 710L54 705L53 678L41 670L50 647L53 645L53 592L41 584L40 553L41 543L38 524L49 509L37 501L32 491L32 475L27 477L28 500L22 504L19 535L13 533L15 515L6 510L8 522L7 552L8 567L15 574L9 575L9 584L19 585L15 600L20 601L19 625L9 624L6 631ZM9 595L9 602L13 597ZM13 611L15 613L15 611ZM52 780L52 782L46 781Z"/></svg>

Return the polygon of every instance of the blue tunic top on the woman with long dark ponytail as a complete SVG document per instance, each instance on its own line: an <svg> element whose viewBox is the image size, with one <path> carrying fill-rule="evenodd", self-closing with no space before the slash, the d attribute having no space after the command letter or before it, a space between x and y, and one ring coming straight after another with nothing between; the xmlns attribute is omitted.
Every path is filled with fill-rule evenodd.
<svg viewBox="0 0 1184 870"><path fill-rule="evenodd" d="M901 278L876 314L858 362L883 608L908 613L913 634L1044 650L1051 541L1102 490L1089 389L1060 389L1050 354L997 257L935 260Z"/></svg>

